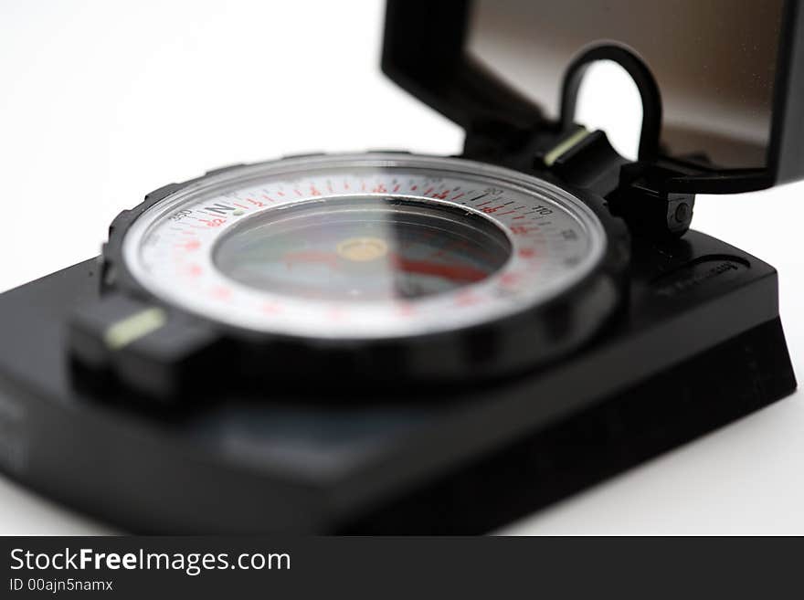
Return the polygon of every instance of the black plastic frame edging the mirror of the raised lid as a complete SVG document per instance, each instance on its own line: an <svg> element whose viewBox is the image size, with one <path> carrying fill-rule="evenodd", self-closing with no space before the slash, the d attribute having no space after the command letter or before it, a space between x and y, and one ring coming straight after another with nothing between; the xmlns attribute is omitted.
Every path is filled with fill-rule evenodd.
<svg viewBox="0 0 804 600"><path fill-rule="evenodd" d="M492 127L513 136L560 130L561 123L545 119L536 104L465 51L470 15L471 0L387 0L383 71L468 132ZM643 123L643 133L654 125ZM641 142L644 160L651 139ZM661 154L655 160L680 163ZM673 176L667 191L734 194L804 178L804 11L799 0L784 5L765 168L704 170L682 164L685 174Z"/></svg>

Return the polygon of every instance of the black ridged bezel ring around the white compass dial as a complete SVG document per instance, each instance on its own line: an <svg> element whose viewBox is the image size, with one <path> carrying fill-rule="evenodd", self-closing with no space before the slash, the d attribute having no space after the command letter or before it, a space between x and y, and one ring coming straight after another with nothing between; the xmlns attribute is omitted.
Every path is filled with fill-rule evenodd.
<svg viewBox="0 0 804 600"><path fill-rule="evenodd" d="M137 278L125 259L125 240L136 226L138 218L149 208L165 199L181 197L197 187L211 182L226 181L241 170L264 171L282 169L289 161L337 161L371 159L376 161L417 160L425 163L445 161L463 168L486 169L494 174L505 174L512 181L524 185L538 184L574 198L581 210L588 211L600 225L602 247L594 264L573 280L565 289L528 305L520 311L492 315L486 321L432 332L411 332L407 335L346 338L332 335L298 335L288 332L259 331L236 323L219 321L197 311L187 311L174 301L161 297L148 289ZM605 324L622 300L622 282L629 260L629 237L624 224L608 214L605 202L582 190L570 189L555 181L536 178L531 174L515 172L491 163L478 163L459 158L418 156L409 153L365 153L314 155L281 159L252 165L233 165L207 173L203 177L183 184L170 184L146 196L143 204L124 211L111 225L109 242L103 249L103 288L106 292L123 295L156 304L180 320L201 322L216 336L244 348L262 348L272 354L277 348L292 349L284 353L287 372L302 371L309 361L317 360L326 369L326 356L337 355L341 374L354 367L368 379L375 380L387 374L389 368L411 379L454 379L455 377L498 376L545 363L568 352L590 338ZM298 369L288 364L295 357ZM344 364L351 367L344 368ZM379 365L379 366L377 366ZM283 367L284 368L284 367Z"/></svg>

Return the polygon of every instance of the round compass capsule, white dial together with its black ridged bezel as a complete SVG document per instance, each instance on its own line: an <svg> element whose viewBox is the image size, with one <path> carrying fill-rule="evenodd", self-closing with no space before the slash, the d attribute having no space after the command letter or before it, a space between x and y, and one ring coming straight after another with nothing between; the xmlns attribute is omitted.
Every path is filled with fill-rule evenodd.
<svg viewBox="0 0 804 600"><path fill-rule="evenodd" d="M111 231L104 302L124 308L87 324L91 353L147 354L139 338L173 321L208 332L205 353L280 344L289 373L337 354L340 377L397 382L504 374L587 339L619 301L626 237L556 184L409 153L228 168Z"/></svg>

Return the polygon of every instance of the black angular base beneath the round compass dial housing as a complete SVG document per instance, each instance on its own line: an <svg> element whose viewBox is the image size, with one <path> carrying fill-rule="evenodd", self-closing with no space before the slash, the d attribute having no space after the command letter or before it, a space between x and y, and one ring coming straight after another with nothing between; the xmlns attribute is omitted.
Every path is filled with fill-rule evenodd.
<svg viewBox="0 0 804 600"><path fill-rule="evenodd" d="M173 418L75 391L65 321L98 289L80 263L0 296L0 468L134 532L488 530L794 389L773 268L695 232L634 256L628 308L534 374Z"/></svg>

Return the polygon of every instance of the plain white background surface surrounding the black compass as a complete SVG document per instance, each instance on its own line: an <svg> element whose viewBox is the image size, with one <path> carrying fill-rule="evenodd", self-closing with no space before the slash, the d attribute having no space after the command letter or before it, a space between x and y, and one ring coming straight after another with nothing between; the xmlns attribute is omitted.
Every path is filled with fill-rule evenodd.
<svg viewBox="0 0 804 600"><path fill-rule="evenodd" d="M0 289L97 254L120 210L208 168L311 151L457 152L458 128L380 74L381 18L373 1L0 0ZM601 99L584 114L632 127L627 106ZM802 192L699 196L694 220L778 268L799 375ZM799 396L504 531L804 533ZM0 479L0 532L107 531Z"/></svg>

